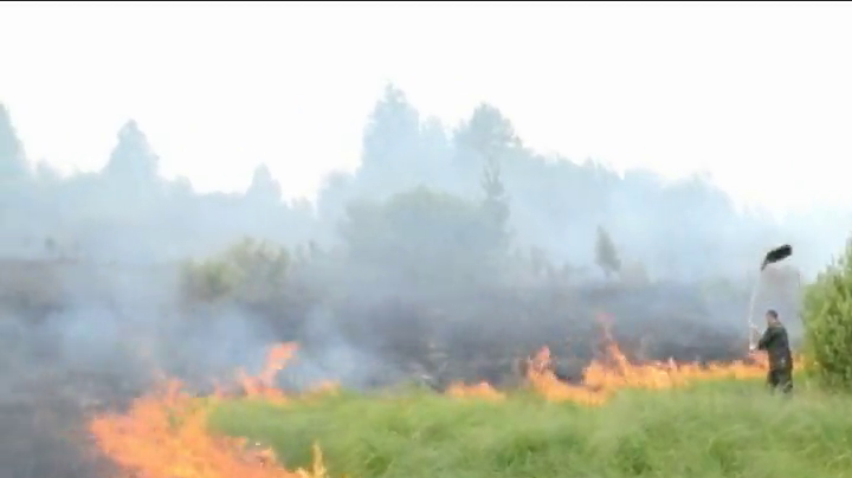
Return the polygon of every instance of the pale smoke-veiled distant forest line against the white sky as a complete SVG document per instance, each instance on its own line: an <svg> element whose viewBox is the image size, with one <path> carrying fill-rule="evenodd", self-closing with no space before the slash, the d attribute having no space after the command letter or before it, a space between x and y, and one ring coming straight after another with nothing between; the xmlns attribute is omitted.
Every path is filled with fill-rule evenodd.
<svg viewBox="0 0 852 478"><path fill-rule="evenodd" d="M667 182L651 171L619 174L593 161L543 156L488 104L448 128L422 118L393 86L368 119L360 166L329 174L315 202L282 200L264 165L242 194L199 194L184 178L161 177L158 166L155 145L129 121L100 171L61 177L27 159L10 112L0 106L0 253L149 262L209 254L246 236L327 246L339 243L347 214L360 202L415 188L476 201L489 194L488 174L496 175L506 203L512 250L589 278L608 274L596 264L601 234L623 268L680 280L743 277L763 248L794 239L807 246L797 257L820 266L843 240L803 233L808 221L779 224L737 211L699 176Z"/></svg>

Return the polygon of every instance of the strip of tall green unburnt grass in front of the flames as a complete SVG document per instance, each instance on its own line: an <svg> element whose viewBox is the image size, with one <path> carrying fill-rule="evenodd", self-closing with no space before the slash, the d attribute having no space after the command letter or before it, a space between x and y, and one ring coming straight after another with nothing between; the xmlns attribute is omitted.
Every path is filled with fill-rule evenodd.
<svg viewBox="0 0 852 478"><path fill-rule="evenodd" d="M792 399L755 382L634 391L598 409L524 393L235 401L210 425L271 445L288 467L308 466L316 440L333 477L852 477L852 400L801 388Z"/></svg>

